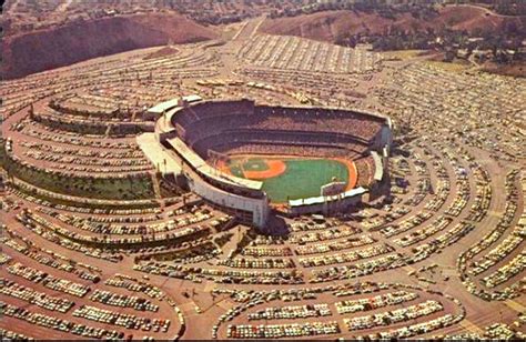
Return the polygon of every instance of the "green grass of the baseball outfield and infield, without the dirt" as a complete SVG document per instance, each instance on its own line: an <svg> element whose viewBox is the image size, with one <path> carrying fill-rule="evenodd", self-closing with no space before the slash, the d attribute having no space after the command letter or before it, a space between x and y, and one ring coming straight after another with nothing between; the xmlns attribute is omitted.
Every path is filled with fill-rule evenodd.
<svg viewBox="0 0 526 342"><path fill-rule="evenodd" d="M347 167L330 159L284 159L286 171L281 175L263 181L263 190L271 202L284 203L290 200L320 195L320 188L336 177L338 181L348 182ZM232 174L243 177L240 159L230 162ZM263 159L243 160L245 170L266 170Z"/></svg>

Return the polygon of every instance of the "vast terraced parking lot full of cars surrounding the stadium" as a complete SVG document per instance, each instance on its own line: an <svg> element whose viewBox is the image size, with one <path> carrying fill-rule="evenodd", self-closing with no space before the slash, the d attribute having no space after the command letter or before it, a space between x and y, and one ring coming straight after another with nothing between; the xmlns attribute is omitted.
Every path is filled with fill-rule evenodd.
<svg viewBox="0 0 526 342"><path fill-rule="evenodd" d="M525 80L257 20L0 82L0 335L524 339ZM139 148L161 124L143 108L181 94L387 114L384 192L263 235Z"/></svg>

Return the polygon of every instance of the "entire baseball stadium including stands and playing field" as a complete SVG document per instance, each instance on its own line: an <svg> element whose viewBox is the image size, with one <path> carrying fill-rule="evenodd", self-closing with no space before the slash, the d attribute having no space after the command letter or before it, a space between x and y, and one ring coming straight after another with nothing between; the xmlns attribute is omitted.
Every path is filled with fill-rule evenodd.
<svg viewBox="0 0 526 342"><path fill-rule="evenodd" d="M272 211L344 211L387 179L392 124L378 114L195 95L149 114L164 151L150 158L158 170L262 231Z"/></svg>

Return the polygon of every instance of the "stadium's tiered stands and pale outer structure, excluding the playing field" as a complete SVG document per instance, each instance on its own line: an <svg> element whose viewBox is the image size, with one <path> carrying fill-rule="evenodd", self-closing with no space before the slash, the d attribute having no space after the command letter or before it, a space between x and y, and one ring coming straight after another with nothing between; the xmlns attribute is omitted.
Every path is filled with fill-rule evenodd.
<svg viewBox="0 0 526 342"><path fill-rule="evenodd" d="M154 109L152 114L159 115L155 139L173 159L171 164L179 165L165 172L211 204L263 231L271 211L263 183L220 171L214 167L218 158L246 153L355 161L356 189L290 201L291 214L345 210L385 180L393 140L387 117L336 108L263 105L247 99L203 101L199 97Z"/></svg>

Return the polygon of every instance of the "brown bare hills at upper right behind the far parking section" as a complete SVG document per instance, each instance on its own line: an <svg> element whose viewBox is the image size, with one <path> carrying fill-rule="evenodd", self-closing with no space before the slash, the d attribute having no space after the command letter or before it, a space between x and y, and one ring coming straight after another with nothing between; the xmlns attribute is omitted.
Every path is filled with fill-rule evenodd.
<svg viewBox="0 0 526 342"><path fill-rule="evenodd" d="M468 32L498 32L513 27L517 32L526 30L525 17L506 17L476 7L445 7L433 16L415 18L411 13L396 13L392 19L376 12L322 11L312 14L267 19L260 31L271 34L299 36L315 40L337 42L348 34L386 34L393 30L407 33L445 28Z"/></svg>

